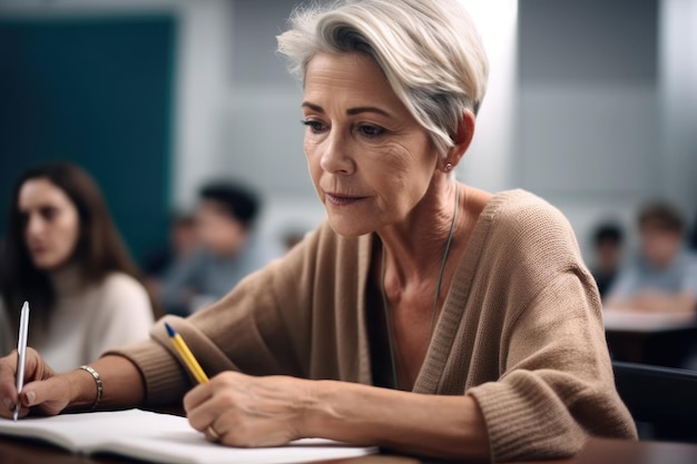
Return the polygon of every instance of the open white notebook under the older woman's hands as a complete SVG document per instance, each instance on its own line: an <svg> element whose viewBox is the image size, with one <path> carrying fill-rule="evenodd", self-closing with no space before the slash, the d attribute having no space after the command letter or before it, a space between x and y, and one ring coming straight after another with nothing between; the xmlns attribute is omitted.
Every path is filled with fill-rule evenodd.
<svg viewBox="0 0 697 464"><path fill-rule="evenodd" d="M363 456L375 446L305 438L287 446L235 448L206 441L185 417L141 409L0 419L0 434L38 438L73 453L116 453L174 464L284 464Z"/></svg>

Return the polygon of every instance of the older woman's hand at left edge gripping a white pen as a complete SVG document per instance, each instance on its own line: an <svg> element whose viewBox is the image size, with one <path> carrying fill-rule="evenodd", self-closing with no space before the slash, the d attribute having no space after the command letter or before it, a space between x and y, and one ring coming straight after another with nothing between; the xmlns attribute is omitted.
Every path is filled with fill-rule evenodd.
<svg viewBox="0 0 697 464"><path fill-rule="evenodd" d="M59 375L49 367L33 348L27 348L24 386L18 395L17 351L0 358L0 416L12 417L18 401L21 403L19 416L29 409L39 414L55 415L68 406L71 398L71 384L68 375Z"/></svg>

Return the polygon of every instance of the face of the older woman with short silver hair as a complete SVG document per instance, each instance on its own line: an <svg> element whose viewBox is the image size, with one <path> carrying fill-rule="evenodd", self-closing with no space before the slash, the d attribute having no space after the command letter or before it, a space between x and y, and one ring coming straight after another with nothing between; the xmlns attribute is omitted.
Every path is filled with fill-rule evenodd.
<svg viewBox="0 0 697 464"><path fill-rule="evenodd" d="M366 55L316 55L303 101L305 154L333 229L357 236L404 221L438 164L429 134Z"/></svg>

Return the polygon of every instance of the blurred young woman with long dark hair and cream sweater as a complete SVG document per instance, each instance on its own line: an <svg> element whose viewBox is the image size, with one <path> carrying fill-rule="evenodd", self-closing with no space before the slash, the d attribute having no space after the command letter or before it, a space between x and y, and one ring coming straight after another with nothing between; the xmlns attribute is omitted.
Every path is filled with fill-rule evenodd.
<svg viewBox="0 0 697 464"><path fill-rule="evenodd" d="M79 167L47 164L20 177L3 255L4 348L16 344L23 300L29 344L58 372L148 337L149 296L99 188Z"/></svg>

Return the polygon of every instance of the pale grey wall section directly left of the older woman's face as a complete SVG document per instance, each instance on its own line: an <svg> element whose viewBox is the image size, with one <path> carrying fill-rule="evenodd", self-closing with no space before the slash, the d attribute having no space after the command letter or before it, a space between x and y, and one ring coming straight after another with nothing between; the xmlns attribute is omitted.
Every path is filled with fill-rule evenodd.
<svg viewBox="0 0 697 464"><path fill-rule="evenodd" d="M220 98L216 170L264 192L261 233L310 230L324 218L303 152L302 88L276 53L295 0L233 3L233 62Z"/></svg>

